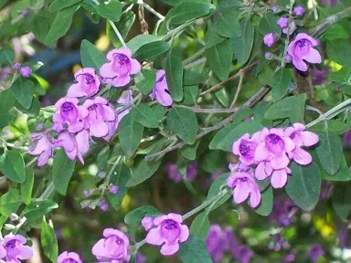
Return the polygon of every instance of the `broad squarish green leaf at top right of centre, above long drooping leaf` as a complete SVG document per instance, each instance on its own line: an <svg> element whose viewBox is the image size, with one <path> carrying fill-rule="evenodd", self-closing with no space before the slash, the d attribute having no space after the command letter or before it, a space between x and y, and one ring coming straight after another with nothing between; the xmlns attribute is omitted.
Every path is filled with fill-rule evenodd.
<svg viewBox="0 0 351 263"><path fill-rule="evenodd" d="M221 37L240 37L241 27L239 24L240 11L238 9L222 8L218 14L218 20L214 30Z"/></svg>

